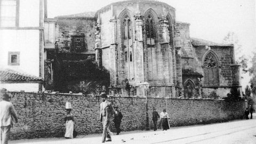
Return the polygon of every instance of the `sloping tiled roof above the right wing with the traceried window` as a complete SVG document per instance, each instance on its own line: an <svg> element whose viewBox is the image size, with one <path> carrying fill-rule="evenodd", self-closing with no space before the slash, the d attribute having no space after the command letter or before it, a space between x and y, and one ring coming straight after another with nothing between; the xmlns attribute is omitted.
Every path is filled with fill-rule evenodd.
<svg viewBox="0 0 256 144"><path fill-rule="evenodd" d="M204 39L200 38L191 38L191 43L194 46L201 46L201 45L207 45L207 46L233 46L233 44L219 44L219 43L214 43L211 41L206 41Z"/></svg>

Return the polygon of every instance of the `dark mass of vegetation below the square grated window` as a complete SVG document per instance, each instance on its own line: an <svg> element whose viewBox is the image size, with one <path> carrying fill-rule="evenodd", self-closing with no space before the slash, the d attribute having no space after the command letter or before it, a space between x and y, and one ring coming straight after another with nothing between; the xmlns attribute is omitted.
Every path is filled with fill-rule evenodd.
<svg viewBox="0 0 256 144"><path fill-rule="evenodd" d="M109 86L109 73L93 59L55 62L55 91L99 94Z"/></svg>

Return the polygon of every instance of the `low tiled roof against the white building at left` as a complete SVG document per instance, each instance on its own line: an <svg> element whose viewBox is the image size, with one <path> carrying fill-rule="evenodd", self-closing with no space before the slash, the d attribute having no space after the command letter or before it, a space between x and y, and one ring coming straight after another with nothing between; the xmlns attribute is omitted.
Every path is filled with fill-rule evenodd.
<svg viewBox="0 0 256 144"><path fill-rule="evenodd" d="M21 74L13 70L0 70L1 82L43 82L43 78Z"/></svg>

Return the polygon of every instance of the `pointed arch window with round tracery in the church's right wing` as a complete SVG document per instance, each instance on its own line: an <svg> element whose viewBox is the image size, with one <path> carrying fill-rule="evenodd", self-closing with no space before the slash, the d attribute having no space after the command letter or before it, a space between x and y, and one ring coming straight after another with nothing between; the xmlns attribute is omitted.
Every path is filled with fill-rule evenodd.
<svg viewBox="0 0 256 144"><path fill-rule="evenodd" d="M203 60L204 86L219 86L219 60L213 51L209 51Z"/></svg>

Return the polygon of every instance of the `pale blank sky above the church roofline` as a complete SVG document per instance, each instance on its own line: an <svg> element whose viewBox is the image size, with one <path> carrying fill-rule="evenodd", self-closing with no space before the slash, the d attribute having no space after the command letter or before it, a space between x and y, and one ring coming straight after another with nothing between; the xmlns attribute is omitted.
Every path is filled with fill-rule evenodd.
<svg viewBox="0 0 256 144"><path fill-rule="evenodd" d="M221 43L234 31L243 53L256 47L255 0L159 0L176 9L176 20L190 23L190 37ZM48 0L48 17L97 11L118 0Z"/></svg>

